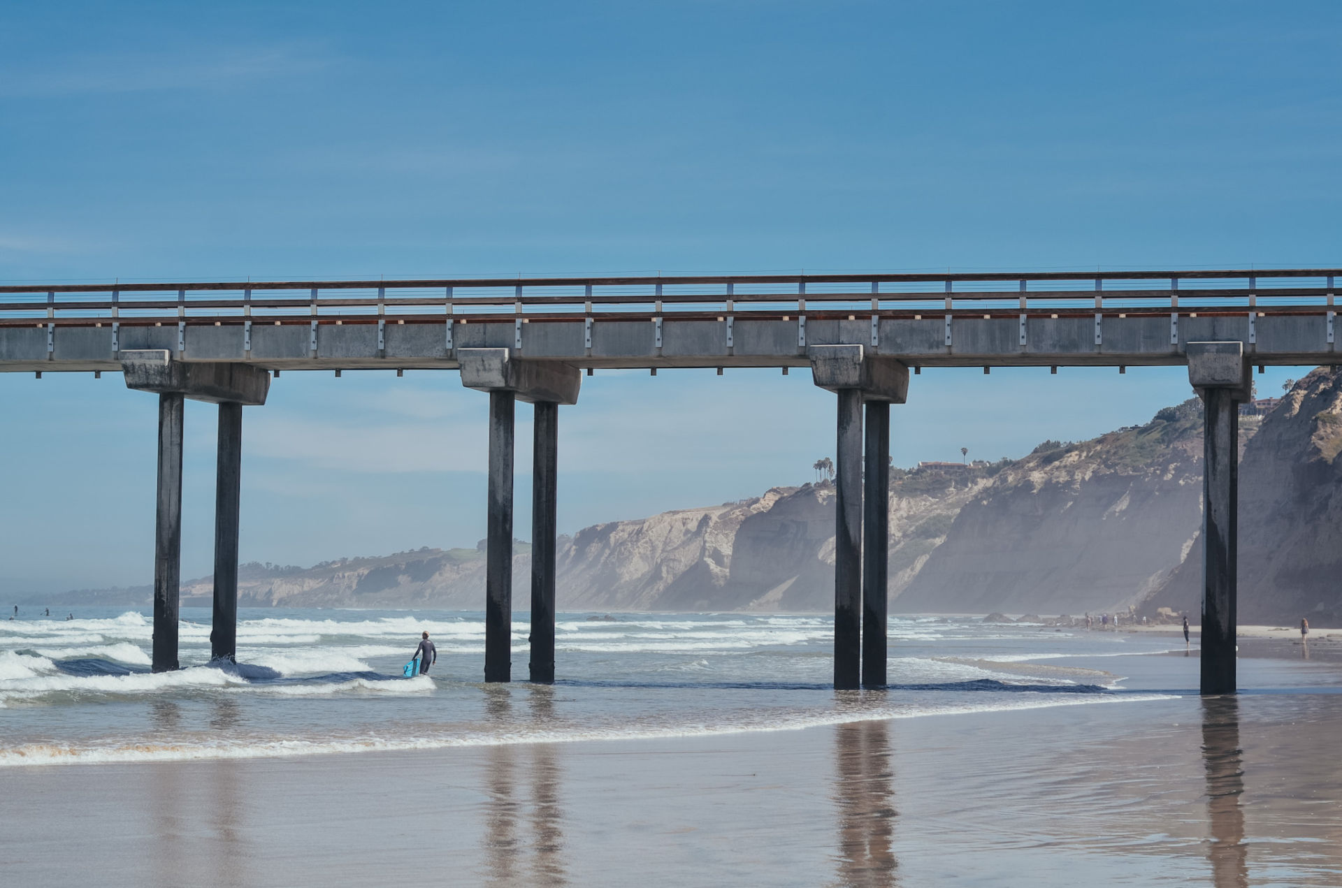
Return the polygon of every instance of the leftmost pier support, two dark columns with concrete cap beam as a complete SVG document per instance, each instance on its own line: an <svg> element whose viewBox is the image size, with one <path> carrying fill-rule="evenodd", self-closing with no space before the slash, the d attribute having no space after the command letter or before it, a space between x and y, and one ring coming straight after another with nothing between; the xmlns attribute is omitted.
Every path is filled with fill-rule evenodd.
<svg viewBox="0 0 1342 888"><path fill-rule="evenodd" d="M122 351L126 388L158 394L158 504L154 533L153 671L176 669L181 598L181 433L185 398L219 404L219 479L215 502L215 657L238 637L238 491L242 408L264 404L270 374L246 364L177 361L166 350ZM221 566L223 565L223 566ZM223 605L223 609L221 609ZM221 641L223 640L223 641Z"/></svg>

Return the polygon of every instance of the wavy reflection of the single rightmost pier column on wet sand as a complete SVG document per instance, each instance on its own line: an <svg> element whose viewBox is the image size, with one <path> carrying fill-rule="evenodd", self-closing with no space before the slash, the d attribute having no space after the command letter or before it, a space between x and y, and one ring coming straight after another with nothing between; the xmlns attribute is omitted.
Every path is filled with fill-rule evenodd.
<svg viewBox="0 0 1342 888"><path fill-rule="evenodd" d="M1240 750L1240 710L1233 696L1202 699L1202 762L1206 766L1206 812L1212 821L1212 884L1249 884L1248 844L1244 841L1244 771Z"/></svg>

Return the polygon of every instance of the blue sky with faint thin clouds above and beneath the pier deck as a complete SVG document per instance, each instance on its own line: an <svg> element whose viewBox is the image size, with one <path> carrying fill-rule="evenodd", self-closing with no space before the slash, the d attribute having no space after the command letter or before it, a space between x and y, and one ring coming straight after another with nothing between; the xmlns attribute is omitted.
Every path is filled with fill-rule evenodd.
<svg viewBox="0 0 1342 888"><path fill-rule="evenodd" d="M0 279L1338 266L1335 3L0 5ZM1304 369L1270 369L1260 390ZM1178 368L927 369L896 465L1143 423ZM149 582L156 402L0 374L0 594ZM487 398L286 373L244 419L242 559L484 535ZM215 410L188 404L183 575ZM530 410L518 409L519 538ZM812 478L804 372L601 372L560 530Z"/></svg>

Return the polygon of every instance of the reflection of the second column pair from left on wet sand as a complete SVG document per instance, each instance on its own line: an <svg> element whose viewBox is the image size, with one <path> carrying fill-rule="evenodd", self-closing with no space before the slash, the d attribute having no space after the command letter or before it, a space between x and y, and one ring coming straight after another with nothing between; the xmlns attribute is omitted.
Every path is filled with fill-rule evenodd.
<svg viewBox="0 0 1342 888"><path fill-rule="evenodd" d="M531 687L531 718L548 722L553 714L553 688ZM501 726L511 723L511 691L490 687L486 711ZM519 821L526 793L518 786L518 761L530 754L529 836L521 838ZM486 794L488 812L484 818L484 867L490 885L565 885L564 810L560 803L562 769L550 743L515 746L510 743L488 750ZM526 779L523 773L522 781ZM527 854L526 852L530 852Z"/></svg>

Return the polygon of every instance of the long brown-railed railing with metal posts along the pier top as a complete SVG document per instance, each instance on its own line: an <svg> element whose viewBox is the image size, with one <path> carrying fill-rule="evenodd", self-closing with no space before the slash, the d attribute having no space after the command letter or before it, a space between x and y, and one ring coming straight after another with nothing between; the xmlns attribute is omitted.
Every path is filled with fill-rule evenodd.
<svg viewBox="0 0 1342 888"><path fill-rule="evenodd" d="M0 286L0 326L1322 315L1335 268Z"/></svg>

